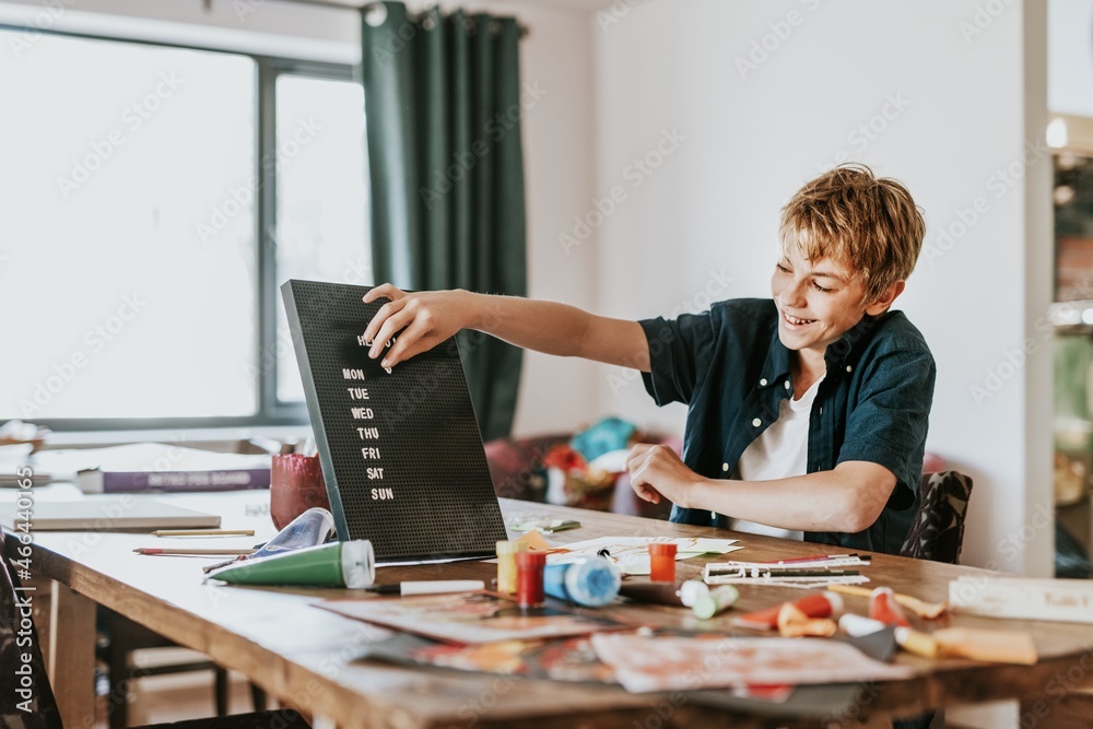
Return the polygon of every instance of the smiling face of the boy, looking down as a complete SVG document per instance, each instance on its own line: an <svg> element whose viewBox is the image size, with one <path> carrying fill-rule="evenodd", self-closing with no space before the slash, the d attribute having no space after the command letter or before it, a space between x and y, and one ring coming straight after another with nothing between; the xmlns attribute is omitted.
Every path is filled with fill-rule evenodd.
<svg viewBox="0 0 1093 729"><path fill-rule="evenodd" d="M838 341L866 314L875 316L891 306L903 282L873 302L843 264L831 258L808 260L797 246L786 246L771 278L778 307L778 338L808 364L821 365L828 344Z"/></svg>

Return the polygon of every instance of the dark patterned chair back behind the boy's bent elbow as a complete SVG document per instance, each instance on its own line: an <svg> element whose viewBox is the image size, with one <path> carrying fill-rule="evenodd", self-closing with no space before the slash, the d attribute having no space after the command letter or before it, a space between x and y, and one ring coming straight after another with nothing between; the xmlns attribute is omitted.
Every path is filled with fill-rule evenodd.
<svg viewBox="0 0 1093 729"><path fill-rule="evenodd" d="M972 479L959 471L924 473L920 503L901 556L960 563Z"/></svg>

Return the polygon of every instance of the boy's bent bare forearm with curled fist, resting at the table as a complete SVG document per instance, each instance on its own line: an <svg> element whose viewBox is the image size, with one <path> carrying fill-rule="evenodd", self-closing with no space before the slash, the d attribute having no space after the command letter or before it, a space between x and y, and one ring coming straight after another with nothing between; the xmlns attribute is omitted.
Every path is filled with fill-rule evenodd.
<svg viewBox="0 0 1093 729"><path fill-rule="evenodd" d="M681 508L800 531L868 529L896 485L892 471L869 461L844 461L831 471L776 481L706 479L667 446L635 446L627 468L634 491L645 501L665 497Z"/></svg>

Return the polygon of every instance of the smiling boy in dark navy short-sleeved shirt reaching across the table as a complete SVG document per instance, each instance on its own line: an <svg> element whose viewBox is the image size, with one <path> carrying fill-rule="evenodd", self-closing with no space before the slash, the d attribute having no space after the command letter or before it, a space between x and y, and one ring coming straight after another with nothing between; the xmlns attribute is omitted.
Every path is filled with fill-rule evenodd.
<svg viewBox="0 0 1093 729"><path fill-rule="evenodd" d="M627 462L642 498L674 504L672 521L760 522L897 553L918 504L936 367L919 331L890 307L924 235L906 188L844 165L783 209L773 299L625 321L552 302L384 284L364 298L391 299L364 337L385 366L472 328L635 367L657 404L689 405L682 460L639 445Z"/></svg>

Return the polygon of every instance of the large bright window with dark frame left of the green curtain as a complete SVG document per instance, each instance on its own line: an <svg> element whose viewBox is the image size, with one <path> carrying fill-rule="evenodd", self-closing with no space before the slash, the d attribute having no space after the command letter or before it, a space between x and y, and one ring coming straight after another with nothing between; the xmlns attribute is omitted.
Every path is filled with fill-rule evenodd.
<svg viewBox="0 0 1093 729"><path fill-rule="evenodd" d="M352 68L40 34L0 95L0 422L306 422L279 285L372 283Z"/></svg>

